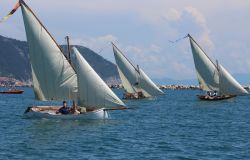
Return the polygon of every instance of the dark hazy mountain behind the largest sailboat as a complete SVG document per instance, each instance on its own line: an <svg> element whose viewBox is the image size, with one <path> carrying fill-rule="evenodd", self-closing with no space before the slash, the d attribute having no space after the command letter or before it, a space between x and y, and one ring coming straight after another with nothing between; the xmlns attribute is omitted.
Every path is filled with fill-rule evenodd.
<svg viewBox="0 0 250 160"><path fill-rule="evenodd" d="M65 48L65 46L61 47ZM86 47L76 47L105 81L119 81L115 64ZM21 81L31 80L28 51L27 42L0 35L0 77L13 77Z"/></svg>

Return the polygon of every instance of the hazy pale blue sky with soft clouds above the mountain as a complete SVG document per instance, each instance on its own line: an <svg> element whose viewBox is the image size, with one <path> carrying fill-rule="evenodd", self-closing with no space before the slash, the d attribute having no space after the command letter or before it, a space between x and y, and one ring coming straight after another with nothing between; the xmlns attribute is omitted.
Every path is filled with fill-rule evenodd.
<svg viewBox="0 0 250 160"><path fill-rule="evenodd" d="M16 0L0 0L5 16ZM231 73L250 73L249 0L26 0L59 43L69 35L114 62L110 41L152 78L196 78L188 39ZM0 35L25 40L19 9Z"/></svg>

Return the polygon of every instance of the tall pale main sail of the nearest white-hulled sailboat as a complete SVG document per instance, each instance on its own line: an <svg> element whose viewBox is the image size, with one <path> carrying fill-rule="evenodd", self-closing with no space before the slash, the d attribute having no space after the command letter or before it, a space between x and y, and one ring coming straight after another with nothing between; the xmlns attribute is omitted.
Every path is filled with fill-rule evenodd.
<svg viewBox="0 0 250 160"><path fill-rule="evenodd" d="M39 100L75 98L77 92L75 71L30 8L23 1L20 3L36 98Z"/></svg>

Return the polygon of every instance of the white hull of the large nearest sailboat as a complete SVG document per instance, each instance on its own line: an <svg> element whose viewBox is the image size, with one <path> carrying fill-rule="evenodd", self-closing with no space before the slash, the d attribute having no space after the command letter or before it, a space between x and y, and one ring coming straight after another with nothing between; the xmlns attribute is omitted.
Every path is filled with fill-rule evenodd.
<svg viewBox="0 0 250 160"><path fill-rule="evenodd" d="M109 114L105 109L96 109L81 114L57 114L59 107L55 106L36 106L28 107L24 113L25 118L45 118L45 119L72 119L72 120L100 120L108 119Z"/></svg>

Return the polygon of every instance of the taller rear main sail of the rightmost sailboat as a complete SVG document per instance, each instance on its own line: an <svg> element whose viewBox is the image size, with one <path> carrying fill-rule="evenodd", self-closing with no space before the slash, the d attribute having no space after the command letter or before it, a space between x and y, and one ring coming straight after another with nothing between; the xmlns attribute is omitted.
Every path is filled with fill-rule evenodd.
<svg viewBox="0 0 250 160"><path fill-rule="evenodd" d="M214 63L189 35L197 78L202 90L218 90L219 76Z"/></svg>

